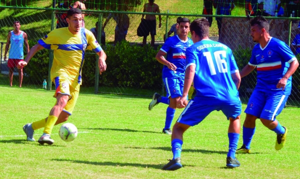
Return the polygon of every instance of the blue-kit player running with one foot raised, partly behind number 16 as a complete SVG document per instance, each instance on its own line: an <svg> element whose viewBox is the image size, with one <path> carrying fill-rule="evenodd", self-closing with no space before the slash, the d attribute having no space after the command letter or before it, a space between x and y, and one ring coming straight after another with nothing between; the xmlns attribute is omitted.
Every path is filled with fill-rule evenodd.
<svg viewBox="0 0 300 179"><path fill-rule="evenodd" d="M162 80L164 82L166 97L154 93L148 109L151 110L159 102L168 104L166 108L165 124L162 133L172 134L170 129L174 113L176 111L176 102L182 95L184 70L185 70L185 50L193 44L187 37L190 21L188 18L180 18L178 24L178 34L168 37L155 58L163 64ZM166 59L164 55L166 54Z"/></svg>

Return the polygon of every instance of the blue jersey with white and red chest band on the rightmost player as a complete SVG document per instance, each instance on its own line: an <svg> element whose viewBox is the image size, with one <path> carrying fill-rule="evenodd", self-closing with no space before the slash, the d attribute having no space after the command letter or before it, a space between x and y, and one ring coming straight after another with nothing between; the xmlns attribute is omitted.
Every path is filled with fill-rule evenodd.
<svg viewBox="0 0 300 179"><path fill-rule="evenodd" d="M248 62L256 66L257 83L255 89L270 93L289 95L291 91L291 76L287 79L284 90L277 88L279 79L286 73L289 63L296 60L290 48L281 40L271 37L264 48L257 43L252 49Z"/></svg>

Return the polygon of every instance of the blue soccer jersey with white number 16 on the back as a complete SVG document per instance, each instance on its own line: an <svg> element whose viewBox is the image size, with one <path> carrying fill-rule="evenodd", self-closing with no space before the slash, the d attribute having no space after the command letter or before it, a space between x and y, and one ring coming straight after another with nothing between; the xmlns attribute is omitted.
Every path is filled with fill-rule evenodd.
<svg viewBox="0 0 300 179"><path fill-rule="evenodd" d="M194 100L207 105L234 105L240 103L231 73L238 68L231 49L219 42L204 39L186 49L186 67L195 66Z"/></svg>

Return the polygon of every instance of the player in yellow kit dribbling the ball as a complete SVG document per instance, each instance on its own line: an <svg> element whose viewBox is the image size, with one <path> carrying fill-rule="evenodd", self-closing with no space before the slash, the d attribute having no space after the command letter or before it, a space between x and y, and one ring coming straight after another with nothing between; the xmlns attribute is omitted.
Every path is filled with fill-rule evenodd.
<svg viewBox="0 0 300 179"><path fill-rule="evenodd" d="M38 139L40 144L53 144L50 134L54 125L64 122L72 114L81 84L81 70L86 49L94 50L99 56L99 73L106 70L106 54L89 30L82 28L82 13L78 8L67 11L68 27L50 31L38 40L28 52L24 61L18 63L18 68L27 65L30 58L43 48L53 49L54 59L51 67L51 79L55 84L54 97L57 102L50 110L49 116L33 123L27 123L23 130L27 140L35 141L33 131L44 127L43 134Z"/></svg>

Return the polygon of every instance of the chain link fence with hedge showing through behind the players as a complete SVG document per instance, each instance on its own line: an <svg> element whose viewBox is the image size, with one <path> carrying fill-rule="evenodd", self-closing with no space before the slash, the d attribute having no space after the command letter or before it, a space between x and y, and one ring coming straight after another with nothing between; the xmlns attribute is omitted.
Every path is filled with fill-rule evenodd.
<svg viewBox="0 0 300 179"><path fill-rule="evenodd" d="M57 24L62 26L60 21L56 21L55 16L62 15L65 10L0 7L0 12L3 11L5 15L0 17L0 85L8 86L8 67L7 61L4 61L4 52L7 34L13 30L13 21L18 20L20 22L20 29L27 33L29 47L31 48L37 43L38 39L50 32ZM149 44L142 46L143 37L137 36L137 28L141 22L142 12L86 10L84 14L85 28L97 28L95 36L98 41L101 41L101 46L107 54L107 71L99 76L95 67L97 59L95 53L87 51L88 53L85 56L82 86L94 86L95 92L149 95L153 91L162 90L162 65L156 61L155 54L159 50L160 45L163 44L164 35L169 31L171 25L176 23L178 16L187 17L190 20L203 16L212 17L209 38L215 41L218 40L232 49L239 69L247 64L254 45L249 35L249 19L245 16L223 16L219 30L215 17L220 16L161 13L162 25L159 28L156 14L155 45L151 47ZM300 33L297 28L298 19L268 17L268 20L270 21L270 35L289 44L295 52L296 45L292 45L292 41ZM150 35L148 35L147 43L150 40ZM25 49L24 52L26 52ZM46 79L48 81L48 89L50 89L51 83L49 82L48 73L51 66L51 58L52 53L50 50L43 49L38 51L23 69L22 87L42 88L42 82ZM287 101L287 105L300 106L299 72L300 70L297 70L293 75L292 93ZM13 85L17 84L18 71L14 69ZM239 91L243 102L247 101L255 84L255 71L242 78Z"/></svg>

